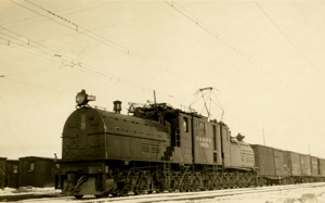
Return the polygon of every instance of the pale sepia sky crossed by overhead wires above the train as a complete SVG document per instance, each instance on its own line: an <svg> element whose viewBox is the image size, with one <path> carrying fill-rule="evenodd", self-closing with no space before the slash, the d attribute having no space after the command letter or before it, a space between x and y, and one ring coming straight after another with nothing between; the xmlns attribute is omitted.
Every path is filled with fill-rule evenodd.
<svg viewBox="0 0 325 203"><path fill-rule="evenodd" d="M325 158L324 11L325 1L1 0L0 156L61 157L81 89L126 114L154 90L181 107L213 87L233 136L263 144L264 131L266 145Z"/></svg>

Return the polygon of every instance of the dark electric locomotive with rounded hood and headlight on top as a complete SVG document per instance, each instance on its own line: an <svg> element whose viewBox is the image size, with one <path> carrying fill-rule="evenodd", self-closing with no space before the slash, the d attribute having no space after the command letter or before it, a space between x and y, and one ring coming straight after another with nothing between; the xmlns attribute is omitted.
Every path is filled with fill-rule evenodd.
<svg viewBox="0 0 325 203"><path fill-rule="evenodd" d="M166 103L131 104L128 115L88 105L76 111L62 134L61 188L66 195L197 191L256 183L253 151L226 124Z"/></svg>

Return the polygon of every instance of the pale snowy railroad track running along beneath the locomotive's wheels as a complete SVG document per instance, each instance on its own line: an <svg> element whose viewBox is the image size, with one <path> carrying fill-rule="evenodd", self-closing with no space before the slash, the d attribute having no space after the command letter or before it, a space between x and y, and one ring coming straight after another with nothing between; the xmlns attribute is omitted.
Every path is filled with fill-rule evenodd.
<svg viewBox="0 0 325 203"><path fill-rule="evenodd" d="M195 200L222 200L226 196L249 196L255 194L270 194L277 193L281 191L290 190L302 190L307 188L325 187L324 182L316 183L303 183L303 185L289 185L289 186L270 186L270 187L258 187L258 188L238 188L238 189L226 189L226 190L212 190L212 191L198 191L198 192L171 192L171 193L155 193L155 194L142 194L132 196L118 196L118 198L101 198L95 199L92 195L86 195L82 200L76 200L72 196L57 196L57 198L42 198L32 199L32 202L73 202L73 203L108 203L108 202L120 202L120 203L150 203L150 202L167 202L167 201L195 201ZM30 200L26 200L26 202ZM25 202L25 201L20 201Z"/></svg>

